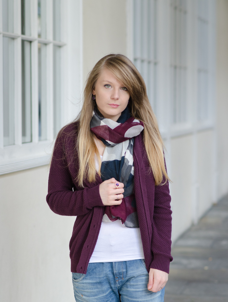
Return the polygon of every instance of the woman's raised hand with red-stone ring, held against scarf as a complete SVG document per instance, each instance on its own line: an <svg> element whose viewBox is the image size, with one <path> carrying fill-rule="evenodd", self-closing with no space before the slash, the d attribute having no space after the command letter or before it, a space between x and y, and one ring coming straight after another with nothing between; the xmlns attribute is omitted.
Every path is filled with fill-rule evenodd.
<svg viewBox="0 0 228 302"><path fill-rule="evenodd" d="M115 183L119 183L119 188L115 187ZM115 178L103 181L99 186L100 198L103 205L120 205L122 202L124 184L118 182ZM119 200L117 200L117 194Z"/></svg>

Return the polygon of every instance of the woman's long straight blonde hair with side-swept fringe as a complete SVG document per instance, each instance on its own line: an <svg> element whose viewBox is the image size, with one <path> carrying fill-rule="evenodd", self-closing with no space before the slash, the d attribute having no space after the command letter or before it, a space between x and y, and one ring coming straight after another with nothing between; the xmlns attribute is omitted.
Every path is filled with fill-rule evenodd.
<svg viewBox="0 0 228 302"><path fill-rule="evenodd" d="M123 54L108 54L93 67L87 77L84 89L84 102L78 118L79 129L75 146L75 157L78 157L80 167L77 176L79 185L83 187L84 179L89 182L95 181L97 173L94 160L95 154L99 166L101 165L99 152L90 131L90 121L96 105L92 98L92 91L103 68L107 68L117 80L127 87L130 93L128 106L131 115L144 123L144 144L154 174L155 185L165 183L169 180L169 177L164 163L163 140L158 129L157 119L146 94L145 82L129 58Z"/></svg>

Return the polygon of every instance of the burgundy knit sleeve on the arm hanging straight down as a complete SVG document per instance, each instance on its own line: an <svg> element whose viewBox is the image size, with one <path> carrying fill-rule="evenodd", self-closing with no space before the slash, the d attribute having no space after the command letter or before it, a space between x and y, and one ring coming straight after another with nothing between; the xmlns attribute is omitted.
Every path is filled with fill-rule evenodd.
<svg viewBox="0 0 228 302"><path fill-rule="evenodd" d="M154 216L152 223L152 253L153 260L150 268L163 270L169 273L171 256L171 196L169 182L155 186Z"/></svg>

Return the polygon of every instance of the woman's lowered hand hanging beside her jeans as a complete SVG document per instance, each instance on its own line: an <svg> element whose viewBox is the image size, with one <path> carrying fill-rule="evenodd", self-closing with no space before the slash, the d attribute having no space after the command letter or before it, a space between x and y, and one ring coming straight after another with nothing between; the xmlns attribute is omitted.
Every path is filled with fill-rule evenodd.
<svg viewBox="0 0 228 302"><path fill-rule="evenodd" d="M168 274L162 270L150 269L148 291L160 291L168 281Z"/></svg>

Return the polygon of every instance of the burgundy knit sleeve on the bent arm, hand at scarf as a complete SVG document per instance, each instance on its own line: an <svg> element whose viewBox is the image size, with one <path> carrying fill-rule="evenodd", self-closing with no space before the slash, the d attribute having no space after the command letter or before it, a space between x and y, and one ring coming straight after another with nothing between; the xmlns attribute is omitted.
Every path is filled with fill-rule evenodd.
<svg viewBox="0 0 228 302"><path fill-rule="evenodd" d="M50 209L56 214L84 215L95 206L104 206L99 194L99 184L92 188L75 190L65 157L63 141L64 134L58 135L50 165L46 200Z"/></svg>

